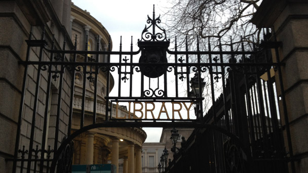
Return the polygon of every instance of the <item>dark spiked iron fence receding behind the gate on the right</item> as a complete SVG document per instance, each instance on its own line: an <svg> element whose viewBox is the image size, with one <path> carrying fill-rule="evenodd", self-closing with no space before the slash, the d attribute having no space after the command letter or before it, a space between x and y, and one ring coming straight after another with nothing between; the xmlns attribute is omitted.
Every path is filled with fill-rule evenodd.
<svg viewBox="0 0 308 173"><path fill-rule="evenodd" d="M283 139L282 95L276 90L280 65L270 65L270 49L258 50L221 75L222 93L203 119L239 141L214 128L196 128L165 172L288 172L292 159Z"/></svg>

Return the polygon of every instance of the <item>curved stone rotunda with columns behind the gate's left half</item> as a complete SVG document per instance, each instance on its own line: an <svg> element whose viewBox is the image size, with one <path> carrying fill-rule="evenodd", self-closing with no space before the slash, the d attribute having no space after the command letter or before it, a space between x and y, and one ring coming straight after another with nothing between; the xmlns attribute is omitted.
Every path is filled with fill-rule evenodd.
<svg viewBox="0 0 308 173"><path fill-rule="evenodd" d="M71 7L71 38L74 42L77 42L77 50L86 49L88 51L95 51L97 45L99 45L98 51L107 51L109 45L109 33L103 25L93 18L89 12L74 5ZM88 40L86 40L87 38ZM84 62L84 57L85 55L78 55L77 61ZM87 55L87 57L93 58L93 55ZM98 57L98 62L107 62L107 57L100 55ZM72 131L80 128L83 90L82 81L84 78L82 71L83 69L75 73ZM106 100L104 97L106 96L106 81L106 74L100 71L97 83L97 122L103 122L105 118L104 111L106 109ZM110 83L111 91L114 84L112 75L110 76ZM87 80L86 92L85 125L92 123L94 82ZM124 117L128 114L125 107L117 107L116 105L113 105L113 109L118 109L119 116ZM115 116L116 111L113 111L112 113L112 116ZM119 171L119 159L121 159L123 160L123 164L121 165L123 172L127 172L129 168L134 168L135 172L138 172L138 170L140 172L140 152L145 138L146 134L141 128L100 127L93 129L88 131L87 134L82 134L74 140L75 152L73 164L103 164L108 163L109 160L109 163L117 165ZM129 152L134 153L134 156L129 155ZM138 154L138 152L140 154ZM129 159L136 160L136 167L134 163L135 161L128 163ZM138 165L139 167L137 167Z"/></svg>

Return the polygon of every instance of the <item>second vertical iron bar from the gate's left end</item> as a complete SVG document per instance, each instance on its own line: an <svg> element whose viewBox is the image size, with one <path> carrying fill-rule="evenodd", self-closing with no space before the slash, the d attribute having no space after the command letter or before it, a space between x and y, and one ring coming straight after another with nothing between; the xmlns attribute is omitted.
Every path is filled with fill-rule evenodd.
<svg viewBox="0 0 308 173"><path fill-rule="evenodd" d="M42 41L45 40L45 25L43 26L42 32ZM41 44L40 46L40 55L38 57L38 61L42 61L43 57L43 49L44 45ZM38 101L38 90L40 89L40 77L41 77L41 66L37 66L37 75L36 75L36 85L35 85L35 95L34 95L34 104L33 104L33 114L32 114L32 122L31 122L31 132L30 132L30 142L29 142L29 154L28 154L28 163L27 163L27 173L30 173L31 170L31 158L32 158L32 149L33 149L33 142L34 142L34 129L35 129L35 115L36 115L36 107Z"/></svg>

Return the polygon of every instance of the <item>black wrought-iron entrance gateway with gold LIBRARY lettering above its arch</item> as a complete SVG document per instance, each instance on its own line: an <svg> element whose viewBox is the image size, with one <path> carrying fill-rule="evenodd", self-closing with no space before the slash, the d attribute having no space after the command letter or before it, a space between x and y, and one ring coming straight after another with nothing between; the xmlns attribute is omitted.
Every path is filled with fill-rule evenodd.
<svg viewBox="0 0 308 173"><path fill-rule="evenodd" d="M152 17L148 16L149 26L145 26L141 33L138 51L133 51L131 44L131 51L124 52L121 44L120 51L111 52L110 41L107 51L76 51L76 47L75 50L66 50L65 46L62 50L56 50L54 46L48 49L44 36L40 40L33 40L30 37L27 40L28 52L31 48L39 48L39 61L29 61L28 53L26 60L20 64L26 68L29 65L38 66L38 79L41 72L46 72L49 76L48 92L51 79L59 82L62 91L65 70L72 76L70 85L72 89L76 73L86 76L82 81L83 86L89 80L94 87L93 122L84 124L86 90L83 90L80 128L71 134L70 111L67 136L59 147L56 146L54 151L46 151L47 156L42 158L36 157L37 155L32 157L31 154L25 158L26 149L16 148L14 166L21 164L23 167L26 162L27 170L30 171L32 163L35 166L40 163L48 167L50 172L70 172L72 140L94 128L193 127L196 128L195 134L198 138L191 143L191 146L196 145L199 148L183 149L181 152L191 151L190 155L186 152L185 157L178 157L178 160L170 162L165 172L181 172L180 168L177 168L179 163L190 164L189 169L191 165L199 164L202 168L197 167L195 170L207 168L211 172L254 172L253 168L262 165L286 171L283 169L288 159L283 152L275 91L276 83L277 87L282 83L280 77L282 64L279 62L278 54L276 54L277 61L273 62L272 55L268 52L268 49L277 51L279 43L264 41L263 47L256 48L251 45L252 49L248 49L243 42L239 45L231 42L228 46L222 46L217 39L218 44L212 49L210 39L207 48L200 48L197 39L195 51L188 50L187 40L182 48L184 50L179 51L175 38L175 47L171 50L170 39L167 39L166 31L158 25L160 22L161 19L155 16L155 11ZM240 49L234 51L236 47ZM50 60L42 59L43 52L49 55ZM77 62L78 55L88 58L85 58L84 62ZM107 56L107 62L98 61L101 55ZM137 55L140 58L136 58ZM270 71L273 68L276 70L276 76L271 75ZM27 80L26 71L24 81ZM99 71L104 72L107 83L104 122L98 123L96 95ZM110 74L117 77L113 78ZM261 75L265 75L266 79L261 79ZM112 96L109 95L110 82L118 84L119 88L117 94ZM40 82L36 82L36 88L39 87ZM23 94L24 90L25 88ZM70 93L70 107L74 92L71 90ZM280 98L284 102L283 92ZM117 109L112 109L113 105L116 105ZM126 105L128 115L119 114L118 107L121 105ZM60 102L58 107L60 110ZM20 109L22 108L21 104ZM48 106L45 109L48 110ZM282 111L286 114L285 107ZM20 135L21 116L20 114L17 135ZM59 116L60 113L57 119ZM34 126L35 123L32 123L33 129ZM58 131L59 121L56 124L55 139L58 139ZM34 133L34 130L31 133ZM43 133L46 136L46 131ZM16 139L16 144L19 144L19 138ZM27 150L32 151L33 148L33 135L31 135ZM196 163L189 162L188 160L192 160L195 150L198 149L203 153L198 155ZM185 159L186 162L182 162L181 159ZM182 171L184 170L185 168Z"/></svg>

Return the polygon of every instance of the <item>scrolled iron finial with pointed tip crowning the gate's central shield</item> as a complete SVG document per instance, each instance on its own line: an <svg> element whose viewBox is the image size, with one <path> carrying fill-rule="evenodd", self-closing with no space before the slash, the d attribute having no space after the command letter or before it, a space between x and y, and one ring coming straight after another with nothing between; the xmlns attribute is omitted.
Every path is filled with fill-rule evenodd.
<svg viewBox="0 0 308 173"><path fill-rule="evenodd" d="M161 23L160 19L161 15L158 18L155 18L155 6L153 5L153 17L150 18L147 15L146 23L150 24L148 27L145 25L142 33L141 33L141 40L143 41L167 41L167 34L166 30L160 27L158 24ZM152 31L149 29L152 27ZM156 28L160 30L160 32L156 32ZM170 40L170 39L168 39ZM139 41L139 39L138 39Z"/></svg>

